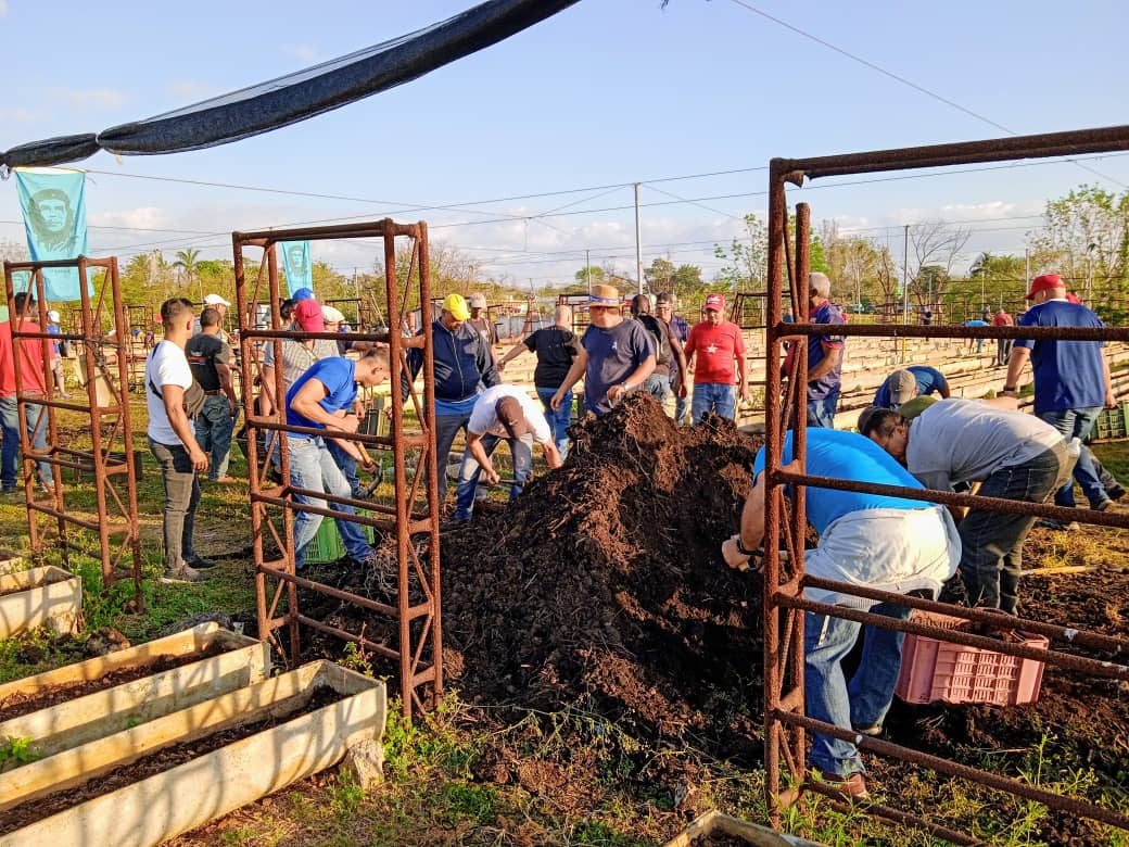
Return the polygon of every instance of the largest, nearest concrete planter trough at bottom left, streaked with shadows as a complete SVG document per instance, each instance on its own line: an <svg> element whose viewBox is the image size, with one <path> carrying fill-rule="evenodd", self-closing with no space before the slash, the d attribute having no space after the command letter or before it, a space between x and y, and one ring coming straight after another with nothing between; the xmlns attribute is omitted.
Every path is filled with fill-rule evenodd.
<svg viewBox="0 0 1129 847"><path fill-rule="evenodd" d="M335 765L355 744L383 736L384 683L314 662L11 771L0 788L0 810L14 804L9 792L26 801L64 791L163 748L286 714L324 687L343 699L0 836L0 847L91 844L91 838L115 847L157 845Z"/></svg>

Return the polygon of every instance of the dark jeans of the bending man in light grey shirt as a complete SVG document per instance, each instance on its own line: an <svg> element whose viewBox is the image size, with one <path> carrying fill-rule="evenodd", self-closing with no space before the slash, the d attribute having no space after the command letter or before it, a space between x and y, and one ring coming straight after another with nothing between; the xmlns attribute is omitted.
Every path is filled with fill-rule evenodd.
<svg viewBox="0 0 1129 847"><path fill-rule="evenodd" d="M980 486L981 497L1045 503L1066 472L1066 446L1048 449L1023 464L1000 468ZM1023 541L1035 518L970 509L961 521L961 578L969 605L1015 614L1019 605Z"/></svg>

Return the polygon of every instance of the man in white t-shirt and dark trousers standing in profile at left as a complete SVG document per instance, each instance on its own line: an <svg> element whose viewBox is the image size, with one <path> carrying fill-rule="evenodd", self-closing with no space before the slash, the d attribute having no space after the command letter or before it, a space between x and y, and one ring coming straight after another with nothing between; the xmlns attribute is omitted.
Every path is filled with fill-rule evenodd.
<svg viewBox="0 0 1129 847"><path fill-rule="evenodd" d="M149 449L160 464L165 482L164 582L200 582L198 568L212 562L192 549L192 530L200 482L196 473L208 470L208 454L196 443L192 417L203 405L203 390L192 378L184 346L192 338L195 308L191 300L174 297L160 305L165 338L145 366L146 403L149 407Z"/></svg>

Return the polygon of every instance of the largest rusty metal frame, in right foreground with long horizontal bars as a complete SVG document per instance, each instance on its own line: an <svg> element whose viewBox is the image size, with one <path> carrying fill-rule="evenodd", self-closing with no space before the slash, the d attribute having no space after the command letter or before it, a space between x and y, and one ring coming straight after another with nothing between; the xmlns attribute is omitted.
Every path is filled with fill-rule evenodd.
<svg viewBox="0 0 1129 847"><path fill-rule="evenodd" d="M807 254L811 212L806 203L796 207L795 260L787 242L788 204L786 184L803 185L804 180L822 176L874 173L879 171L911 171L928 167L1001 161L1021 158L1047 158L1091 152L1110 152L1129 149L1129 126L1111 126L1076 132L1058 132L1042 136L1024 136L991 139L965 143L937 145L931 147L878 150L842 156L824 156L811 159L772 159L769 166L769 255L768 255L768 326L765 356L765 536L764 536L764 744L765 744L765 800L773 822L779 826L780 811L796 802L803 791L812 791L829 796L837 795L825 785L808 779L805 766L805 733L820 732L854 742L859 750L886 756L901 761L931 768L937 772L956 776L981 785L1008 792L1019 797L1043 803L1047 806L1073 814L1102 821L1113 827L1129 829L1129 815L1104 806L1053 794L1015 779L1000 777L975 768L957 765L938 757L927 756L917 750L864 737L855 732L837 728L813 721L804 715L804 612L834 615L904 632L930 636L943 640L987 647L998 653L1035 658L1060 667L1088 673L1095 676L1129 680L1129 640L1111 638L1073 628L1048 625L1040 621L1010 619L1009 626L1030 630L1066 641L1073 648L1084 647L1105 654L1100 660L1080 657L1057 649L1034 650L1023 645L1014 645L982 636L943 630L917 621L896 621L869 612L860 612L843 606L817 603L804 597L805 587L821 587L876 602L896 602L926 611L938 611L981 623L998 623L998 617L963 606L953 606L927 600L917 600L885 592L859 588L826 579L817 579L804 573L804 518L805 487L832 488L851 491L870 491L894 495L918 500L943 503L955 506L1010 512L1043 517L1078 519L1083 523L1129 529L1129 516L1110 515L1086 509L1066 509L1052 505L1017 503L991 497L977 497L939 491L920 491L896 486L879 486L849 480L837 480L806 473L790 473L781 469L785 414L790 412L795 425L794 455L804 466L806 457L806 381L800 375L807 372L806 338L823 333L823 328L808 323L806 285L809 270ZM796 323L784 323L781 317L782 297L789 294L797 306ZM984 339L1060 339L1060 340L1106 340L1129 341L1129 330L1123 328L1070 329L1053 328L997 328L953 326L911 324L847 324L835 328L843 337L884 338L984 338ZM787 388L781 396L784 383L779 363L787 337L804 337L796 343ZM784 497L785 486L793 486L790 504ZM781 542L784 544L781 545ZM785 570L780 551L788 552L788 569ZM1112 660L1115 661L1111 661ZM791 788L781 789L781 765L787 769ZM887 806L869 805L861 811L873 817L924 829L954 844L978 844L966 833L954 831L933 821Z"/></svg>

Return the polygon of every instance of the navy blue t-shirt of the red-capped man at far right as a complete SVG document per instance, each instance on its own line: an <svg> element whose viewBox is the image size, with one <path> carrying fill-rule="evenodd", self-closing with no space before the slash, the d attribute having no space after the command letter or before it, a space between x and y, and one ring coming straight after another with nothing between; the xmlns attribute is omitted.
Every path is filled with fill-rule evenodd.
<svg viewBox="0 0 1129 847"><path fill-rule="evenodd" d="M1085 306L1068 300L1047 300L1032 306L1019 326L1104 326ZM1016 340L1031 348L1035 374L1035 414L1062 409L1092 409L1105 404L1105 372L1101 341Z"/></svg>

